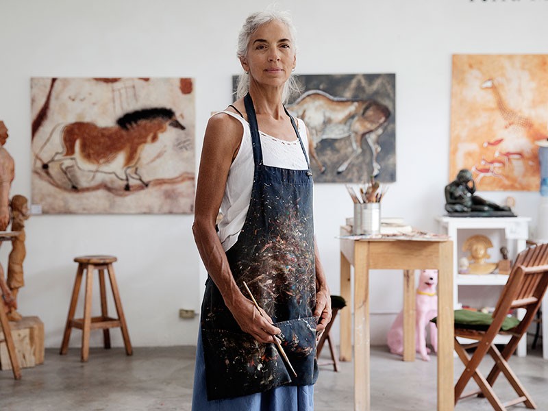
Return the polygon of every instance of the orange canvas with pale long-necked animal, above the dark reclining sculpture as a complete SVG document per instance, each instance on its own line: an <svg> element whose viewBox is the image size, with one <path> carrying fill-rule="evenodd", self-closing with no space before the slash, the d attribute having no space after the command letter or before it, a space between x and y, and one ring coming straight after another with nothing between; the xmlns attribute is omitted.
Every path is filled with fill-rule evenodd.
<svg viewBox="0 0 548 411"><path fill-rule="evenodd" d="M449 180L469 169L478 190L538 190L547 66L548 55L453 55Z"/></svg>

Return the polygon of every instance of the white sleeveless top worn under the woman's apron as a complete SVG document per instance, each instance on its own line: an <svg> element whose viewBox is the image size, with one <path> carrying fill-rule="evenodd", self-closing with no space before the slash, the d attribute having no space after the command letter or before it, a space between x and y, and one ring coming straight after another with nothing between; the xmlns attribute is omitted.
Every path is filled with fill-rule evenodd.
<svg viewBox="0 0 548 411"><path fill-rule="evenodd" d="M255 162L253 160L249 123L233 112L223 111L219 113L229 114L234 117L234 119L242 123L244 129L240 149L228 172L225 195L223 196L220 210L223 214L223 219L219 223L219 238L221 239L223 249L227 251L238 240L238 235L242 230L245 217L247 216L247 209L251 200L251 188L253 187ZM301 136L308 157L306 127L301 119L296 119L296 121L297 129L299 129L299 135ZM295 140L285 141L262 132L259 132L259 134L261 137L262 162L265 166L291 170L308 169L303 149L301 149L301 144L296 136Z"/></svg>

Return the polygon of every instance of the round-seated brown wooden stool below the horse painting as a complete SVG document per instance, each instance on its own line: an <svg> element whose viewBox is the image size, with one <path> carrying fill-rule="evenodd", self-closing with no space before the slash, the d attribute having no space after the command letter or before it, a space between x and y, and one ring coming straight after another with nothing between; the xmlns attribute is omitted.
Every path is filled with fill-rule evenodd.
<svg viewBox="0 0 548 411"><path fill-rule="evenodd" d="M69 316L66 319L66 326L64 329L63 343L61 345L60 354L66 354L66 350L69 349L69 338L71 336L71 329L73 327L82 329L82 362L88 360L90 351L90 330L103 329L103 343L105 348L110 348L110 334L109 328L120 327L122 331L122 338L125 345L125 353L131 356L132 343L129 342L129 334L127 333L127 325L125 324L124 312L122 309L122 302L118 292L118 285L116 284L116 277L114 277L114 269L112 263L116 261L116 257L113 256L83 256L74 259L78 263L78 271L76 273L76 279L74 282L73 296L71 299L71 306L69 308ZM99 293L101 295L101 316L91 316L91 295L93 290L93 271L99 272ZM110 278L110 287L112 288L112 296L114 297L114 305L116 306L116 312L118 318L113 319L107 314L107 299L105 292L105 270L108 271L108 277ZM84 318L75 319L74 312L76 310L76 303L78 300L78 293L80 290L80 284L82 283L82 277L86 271L86 297L84 300Z"/></svg>

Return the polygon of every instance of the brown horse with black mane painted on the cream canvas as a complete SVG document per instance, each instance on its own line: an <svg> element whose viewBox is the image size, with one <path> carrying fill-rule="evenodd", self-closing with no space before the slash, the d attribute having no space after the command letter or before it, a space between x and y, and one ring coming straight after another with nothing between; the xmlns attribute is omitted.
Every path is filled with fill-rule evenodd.
<svg viewBox="0 0 548 411"><path fill-rule="evenodd" d="M127 113L113 127L99 127L82 121L70 123L61 131L63 150L44 162L42 169L48 173L50 164L58 162L73 190L78 190L78 186L69 173L71 167L114 175L125 181L124 189L127 191L130 177L138 179L146 187L149 184L138 173L140 154L146 144L157 141L158 135L170 125L185 129L169 108Z"/></svg>

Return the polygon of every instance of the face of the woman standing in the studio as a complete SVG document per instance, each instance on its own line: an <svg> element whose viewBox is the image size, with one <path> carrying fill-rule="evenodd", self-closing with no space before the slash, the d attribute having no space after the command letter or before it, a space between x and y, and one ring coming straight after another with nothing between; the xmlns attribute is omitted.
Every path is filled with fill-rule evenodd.
<svg viewBox="0 0 548 411"><path fill-rule="evenodd" d="M242 67L251 81L283 86L295 68L295 49L287 26L279 21L261 25L249 39Z"/></svg>

